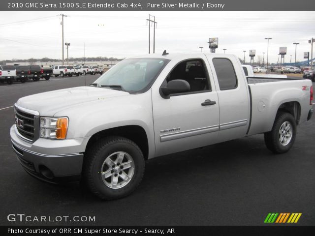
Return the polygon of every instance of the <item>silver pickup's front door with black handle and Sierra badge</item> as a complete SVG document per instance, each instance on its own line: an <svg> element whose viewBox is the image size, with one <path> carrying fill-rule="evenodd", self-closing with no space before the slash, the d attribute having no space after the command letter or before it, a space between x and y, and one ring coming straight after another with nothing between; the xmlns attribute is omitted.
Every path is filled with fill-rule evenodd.
<svg viewBox="0 0 315 236"><path fill-rule="evenodd" d="M201 56L201 57L200 57ZM204 55L167 65L171 71L158 87L172 80L185 80L190 91L163 97L153 88L152 104L156 156L198 148L216 142L219 131L219 101ZM177 60L178 61L178 60Z"/></svg>

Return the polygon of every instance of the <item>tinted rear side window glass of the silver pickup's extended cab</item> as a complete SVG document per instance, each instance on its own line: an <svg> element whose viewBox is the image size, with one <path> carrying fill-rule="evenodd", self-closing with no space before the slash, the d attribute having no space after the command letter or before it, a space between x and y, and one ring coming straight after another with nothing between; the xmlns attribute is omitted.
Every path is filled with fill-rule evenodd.
<svg viewBox="0 0 315 236"><path fill-rule="evenodd" d="M232 62L225 58L212 59L217 73L220 90L237 88L237 78Z"/></svg>

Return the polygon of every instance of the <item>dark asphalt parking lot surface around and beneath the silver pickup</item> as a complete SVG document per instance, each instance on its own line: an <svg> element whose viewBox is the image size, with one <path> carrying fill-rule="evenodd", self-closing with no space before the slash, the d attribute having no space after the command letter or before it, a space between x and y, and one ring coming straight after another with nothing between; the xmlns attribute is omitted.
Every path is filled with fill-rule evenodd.
<svg viewBox="0 0 315 236"><path fill-rule="evenodd" d="M98 77L86 76L86 85ZM255 135L151 159L136 191L116 201L100 201L78 183L29 176L11 150L10 106L26 95L84 84L84 76L0 84L1 225L263 225L268 212L301 212L298 225L315 224L314 116L298 126L286 154L271 153L263 135ZM95 222L9 222L10 213L95 216Z"/></svg>

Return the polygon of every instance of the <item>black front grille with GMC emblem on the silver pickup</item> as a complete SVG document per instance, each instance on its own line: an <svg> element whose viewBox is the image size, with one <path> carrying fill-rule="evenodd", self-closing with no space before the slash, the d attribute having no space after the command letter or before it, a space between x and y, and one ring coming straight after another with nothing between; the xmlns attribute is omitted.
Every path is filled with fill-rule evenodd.
<svg viewBox="0 0 315 236"><path fill-rule="evenodd" d="M15 108L15 126L25 138L34 141L34 116Z"/></svg>

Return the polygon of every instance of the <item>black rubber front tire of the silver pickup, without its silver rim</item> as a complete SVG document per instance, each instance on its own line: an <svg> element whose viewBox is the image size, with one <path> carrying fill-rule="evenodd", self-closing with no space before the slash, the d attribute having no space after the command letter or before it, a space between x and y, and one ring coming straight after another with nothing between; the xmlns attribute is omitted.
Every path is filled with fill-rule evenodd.
<svg viewBox="0 0 315 236"><path fill-rule="evenodd" d="M128 179L128 182L126 183L124 183L123 179L119 175L122 174L122 171L124 172L124 170L127 169L119 169L119 174L115 174L113 171L114 167L109 167L104 164L105 160L110 158L110 156L114 156L114 153L116 152L124 152L133 160L132 163L134 165L134 171L132 171L133 174L131 174L132 176L129 178L130 180ZM126 162L125 158L126 155L123 159ZM116 165L117 168L121 163L116 164L118 164ZM102 179L102 174L100 174L101 172L105 172L102 168L107 168L106 171L112 170L110 172L112 174L109 174L108 172L108 174L111 175L108 177L110 181L113 181L112 179L115 175L118 179L117 185L119 186L119 184L122 183L125 185L119 188L111 188L107 186L105 184L105 180L103 181ZM103 200L123 198L132 193L140 184L144 174L144 168L145 161L142 151L134 142L123 137L110 136L96 142L87 150L83 165L83 181L93 194ZM132 170L132 168L128 169L128 173L130 170ZM125 172L124 174L126 175Z"/></svg>

